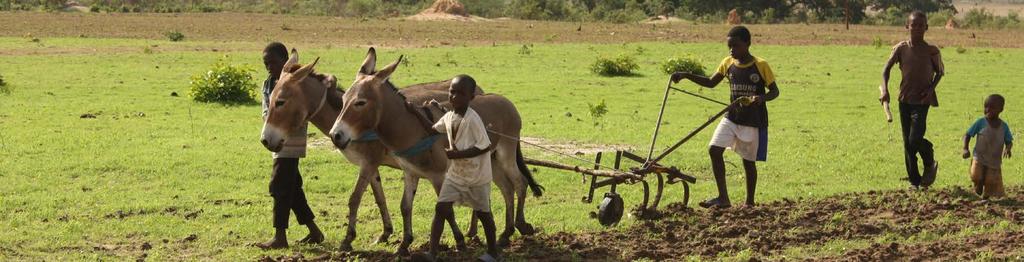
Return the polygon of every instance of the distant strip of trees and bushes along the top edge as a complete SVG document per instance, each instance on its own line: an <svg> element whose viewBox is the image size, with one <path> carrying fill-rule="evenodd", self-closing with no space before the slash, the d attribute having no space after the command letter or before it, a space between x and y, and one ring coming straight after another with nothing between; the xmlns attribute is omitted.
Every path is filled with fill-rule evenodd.
<svg viewBox="0 0 1024 262"><path fill-rule="evenodd" d="M433 0L81 0L92 12L258 12L355 17L395 17L415 14ZM953 17L952 0L463 0L466 10L483 17L635 23L666 15L694 23L723 23L735 9L744 24L843 23L902 25L911 10L930 13L933 27ZM63 0L5 0L0 10L56 11ZM985 9L954 18L967 28L1024 28L1019 14L994 15Z"/></svg>

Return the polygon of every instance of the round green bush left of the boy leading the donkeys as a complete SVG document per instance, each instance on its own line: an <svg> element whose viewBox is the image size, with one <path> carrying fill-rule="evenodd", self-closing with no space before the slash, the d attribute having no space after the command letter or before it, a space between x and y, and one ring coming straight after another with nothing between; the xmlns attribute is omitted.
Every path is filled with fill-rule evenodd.
<svg viewBox="0 0 1024 262"><path fill-rule="evenodd" d="M200 102L227 104L252 103L256 101L255 70L231 66L223 61L213 64L206 73L191 76L188 97Z"/></svg>

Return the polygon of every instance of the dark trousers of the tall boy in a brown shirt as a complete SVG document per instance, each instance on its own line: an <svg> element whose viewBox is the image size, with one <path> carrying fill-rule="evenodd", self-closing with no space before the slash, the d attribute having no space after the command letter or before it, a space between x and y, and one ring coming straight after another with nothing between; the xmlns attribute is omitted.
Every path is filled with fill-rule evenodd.
<svg viewBox="0 0 1024 262"><path fill-rule="evenodd" d="M906 174L912 185L921 185L921 171L918 169L918 155L925 167L935 164L932 142L925 139L928 129L928 104L899 103L899 119L903 127L903 156Z"/></svg>

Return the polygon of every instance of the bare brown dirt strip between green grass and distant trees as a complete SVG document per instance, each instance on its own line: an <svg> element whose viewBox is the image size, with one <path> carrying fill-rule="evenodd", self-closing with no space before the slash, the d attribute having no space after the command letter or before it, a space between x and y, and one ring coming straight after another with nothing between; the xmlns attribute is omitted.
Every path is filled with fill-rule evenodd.
<svg viewBox="0 0 1024 262"><path fill-rule="evenodd" d="M690 23L600 24L517 19L488 23L411 19L357 19L251 13L45 13L3 12L4 37L94 37L166 40L181 32L186 41L283 41L318 46L430 47L523 43L722 42L725 25ZM895 44L905 39L900 27L842 25L750 25L758 44L870 45L876 37ZM938 28L939 26L936 26ZM936 31L930 41L941 46L1024 47L1024 34L1005 30ZM444 43L442 43L444 42ZM252 48L259 48L254 46Z"/></svg>

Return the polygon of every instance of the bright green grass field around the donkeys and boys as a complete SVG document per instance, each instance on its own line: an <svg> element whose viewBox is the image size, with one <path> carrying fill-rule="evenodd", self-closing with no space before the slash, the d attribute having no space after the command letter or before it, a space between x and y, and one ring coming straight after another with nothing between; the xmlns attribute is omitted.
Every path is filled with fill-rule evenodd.
<svg viewBox="0 0 1024 262"><path fill-rule="evenodd" d="M0 48L19 50L3 55L5 61L0 63L0 75L12 90L0 94L0 225L6 227L0 232L0 258L127 260L144 253L161 260L233 261L295 252L314 255L337 248L346 201L354 185L354 166L326 145L313 146L301 162L310 205L328 233L325 246L293 246L273 252L248 247L272 232L271 199L266 193L271 160L258 142L259 105L204 104L184 97L188 77L205 72L218 59L248 64L262 80L262 43L85 38L44 38L41 43L0 38ZM221 45L239 51L209 49ZM152 52L144 51L147 47ZM337 75L342 86L350 83L366 53L356 48L289 47L298 48L305 61L321 56L318 71ZM75 52L45 52L53 48ZM90 48L103 51L92 53ZM528 47L529 54L520 54L522 48L378 51L382 62L399 54L409 58L392 78L399 85L472 75L488 92L516 102L525 136L630 144L642 154L668 81L658 64L671 56L692 54L711 70L728 53L724 43L536 44ZM48 54L32 54L32 50ZM887 126L877 101L889 48L762 46L755 40L752 52L770 62L781 91L768 105L770 150L769 161L759 163L759 201L906 186L900 180L905 173L898 120ZM637 58L641 76L604 78L589 71L595 57L620 54ZM1001 93L1008 98L1002 118L1011 128L1024 123L1015 106L1024 97L1016 79L1024 64L1014 62L1024 58L1024 51L968 48L958 53L955 48L944 48L943 58L947 75L939 86L941 106L930 113L927 136L935 143L941 163L936 186L968 185L968 161L959 159L961 137L981 116L983 98ZM893 75L895 94L899 78L898 73ZM696 89L691 83L676 86ZM723 83L701 92L727 99L727 88ZM171 92L182 96L171 96ZM601 100L607 103L608 113L590 117L587 104ZM669 103L659 147L721 110L681 93L673 93ZM80 118L83 114L96 118ZM706 152L712 130L664 161L698 178L693 191L696 201L715 190ZM524 149L530 158L585 165L537 148ZM730 193L738 203L744 196L741 164L735 154L726 156L732 164L727 165ZM392 239L398 239L400 172L382 171L399 229ZM1024 182L1021 171L1017 160L1004 162L1006 184ZM542 168L536 177L548 191L543 198L528 199L526 219L534 225L545 232L607 230L587 218L596 204L580 202L587 187L578 174ZM432 216L435 198L423 193L430 191L426 184L421 183L414 211L414 247L426 242ZM638 204L637 188L621 187L627 206ZM679 201L680 191L672 187L664 204ZM381 231L379 211L370 195L364 200L355 248L394 251L396 245L371 244ZM503 207L494 208L504 212ZM457 212L465 225L469 211ZM636 221L624 220L621 226ZM292 228L293 241L305 234L294 222ZM191 234L195 241L186 239ZM146 245L152 249L142 248Z"/></svg>

